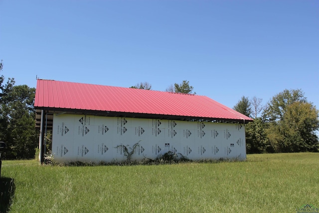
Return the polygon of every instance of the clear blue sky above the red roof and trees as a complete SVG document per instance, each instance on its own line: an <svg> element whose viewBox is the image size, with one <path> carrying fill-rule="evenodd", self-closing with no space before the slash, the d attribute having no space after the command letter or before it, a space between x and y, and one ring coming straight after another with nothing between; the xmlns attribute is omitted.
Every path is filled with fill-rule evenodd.
<svg viewBox="0 0 319 213"><path fill-rule="evenodd" d="M319 0L0 0L2 75L165 91L233 107L302 89L319 109Z"/></svg>

